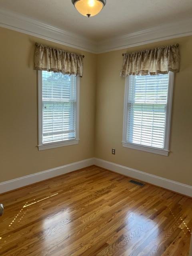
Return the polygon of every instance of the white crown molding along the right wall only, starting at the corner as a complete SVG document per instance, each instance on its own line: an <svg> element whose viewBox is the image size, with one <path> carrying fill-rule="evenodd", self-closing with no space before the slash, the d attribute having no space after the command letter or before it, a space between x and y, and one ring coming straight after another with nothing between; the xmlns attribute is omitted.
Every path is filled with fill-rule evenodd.
<svg viewBox="0 0 192 256"><path fill-rule="evenodd" d="M99 43L98 53L111 52L191 35L192 18L103 40Z"/></svg>

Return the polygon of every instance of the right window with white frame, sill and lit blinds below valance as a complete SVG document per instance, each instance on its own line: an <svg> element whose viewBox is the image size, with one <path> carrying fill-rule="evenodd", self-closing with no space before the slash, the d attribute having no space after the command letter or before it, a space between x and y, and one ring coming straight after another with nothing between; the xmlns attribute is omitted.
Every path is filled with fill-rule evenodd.
<svg viewBox="0 0 192 256"><path fill-rule="evenodd" d="M128 76L123 146L168 156L174 73Z"/></svg>

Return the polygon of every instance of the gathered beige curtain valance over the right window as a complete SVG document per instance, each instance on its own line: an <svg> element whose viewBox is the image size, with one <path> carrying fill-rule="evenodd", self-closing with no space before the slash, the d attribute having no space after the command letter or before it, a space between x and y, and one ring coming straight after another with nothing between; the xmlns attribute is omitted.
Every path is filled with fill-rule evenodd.
<svg viewBox="0 0 192 256"><path fill-rule="evenodd" d="M167 74L179 72L179 45L123 54L120 76Z"/></svg>

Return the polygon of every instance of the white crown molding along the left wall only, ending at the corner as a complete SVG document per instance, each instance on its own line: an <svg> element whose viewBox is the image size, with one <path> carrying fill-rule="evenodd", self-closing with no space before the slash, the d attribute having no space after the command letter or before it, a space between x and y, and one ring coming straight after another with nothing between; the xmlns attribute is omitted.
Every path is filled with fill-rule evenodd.
<svg viewBox="0 0 192 256"><path fill-rule="evenodd" d="M92 40L5 9L0 10L0 26L79 50L97 51L97 44Z"/></svg>

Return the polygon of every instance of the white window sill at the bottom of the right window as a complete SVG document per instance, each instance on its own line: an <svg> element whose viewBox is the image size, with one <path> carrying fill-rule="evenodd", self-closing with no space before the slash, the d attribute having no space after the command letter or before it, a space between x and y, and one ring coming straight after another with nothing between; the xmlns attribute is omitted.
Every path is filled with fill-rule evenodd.
<svg viewBox="0 0 192 256"><path fill-rule="evenodd" d="M160 148L151 148L151 147L141 146L141 145L132 144L132 143L128 143L128 142L122 142L122 145L125 148L142 150L142 151L146 151L149 153L158 154L158 155L162 155L162 156L168 156L168 154L169 154L169 150L160 149Z"/></svg>

